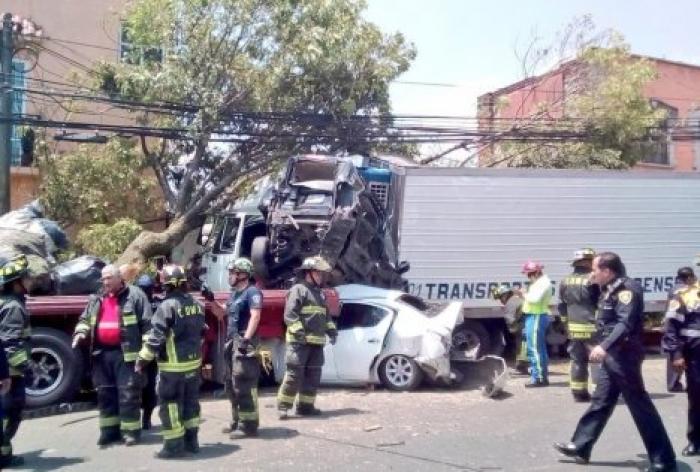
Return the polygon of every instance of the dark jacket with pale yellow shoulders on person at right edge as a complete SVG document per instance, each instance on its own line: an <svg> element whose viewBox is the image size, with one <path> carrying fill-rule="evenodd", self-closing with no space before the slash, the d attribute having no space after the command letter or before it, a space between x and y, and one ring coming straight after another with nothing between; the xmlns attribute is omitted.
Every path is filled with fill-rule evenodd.
<svg viewBox="0 0 700 472"><path fill-rule="evenodd" d="M678 288L669 301L664 318L661 347L676 360L687 348L700 347L700 286Z"/></svg>

